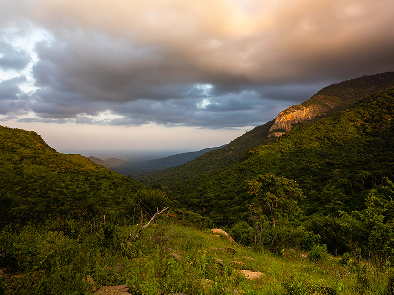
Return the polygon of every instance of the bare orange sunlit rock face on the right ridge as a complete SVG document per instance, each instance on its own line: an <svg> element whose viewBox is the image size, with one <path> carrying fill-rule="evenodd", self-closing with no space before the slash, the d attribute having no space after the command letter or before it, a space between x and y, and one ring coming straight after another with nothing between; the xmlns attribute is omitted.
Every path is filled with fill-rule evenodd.
<svg viewBox="0 0 394 295"><path fill-rule="evenodd" d="M275 119L274 124L269 129L268 137L279 137L293 128L308 124L314 121L318 116L326 113L333 105L296 105L280 112Z"/></svg>

